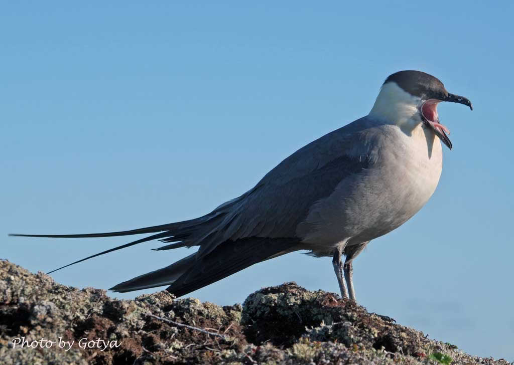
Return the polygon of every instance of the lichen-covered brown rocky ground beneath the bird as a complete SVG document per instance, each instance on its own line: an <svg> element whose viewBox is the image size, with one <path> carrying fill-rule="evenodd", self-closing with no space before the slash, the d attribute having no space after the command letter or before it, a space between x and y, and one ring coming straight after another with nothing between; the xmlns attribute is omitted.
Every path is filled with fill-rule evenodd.
<svg viewBox="0 0 514 365"><path fill-rule="evenodd" d="M134 300L58 284L0 260L9 364L508 364L459 351L294 282L218 306L166 291Z"/></svg>

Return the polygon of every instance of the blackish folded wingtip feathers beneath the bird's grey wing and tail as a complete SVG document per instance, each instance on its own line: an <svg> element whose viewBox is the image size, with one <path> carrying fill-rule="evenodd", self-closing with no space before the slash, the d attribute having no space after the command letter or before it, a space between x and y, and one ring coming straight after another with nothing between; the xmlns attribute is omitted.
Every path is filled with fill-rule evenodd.
<svg viewBox="0 0 514 365"><path fill-rule="evenodd" d="M171 284L167 290L180 297L255 263L296 251L298 243L296 238L262 237L226 241L206 256L198 258L195 253L160 270L122 282L111 290L123 293Z"/></svg>

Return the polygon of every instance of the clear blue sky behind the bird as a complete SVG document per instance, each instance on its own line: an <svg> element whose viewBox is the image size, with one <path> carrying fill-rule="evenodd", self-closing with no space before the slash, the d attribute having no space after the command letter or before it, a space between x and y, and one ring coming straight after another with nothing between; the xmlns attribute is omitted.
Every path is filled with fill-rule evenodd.
<svg viewBox="0 0 514 365"><path fill-rule="evenodd" d="M473 102L439 106L454 150L432 199L356 259L360 304L514 360L512 2L10 2L0 12L2 258L32 272L132 237L30 239L194 218L418 69ZM52 274L107 289L187 249L143 243ZM289 254L198 290L217 304L294 280L338 292L329 258ZM116 296L133 298L144 292Z"/></svg>

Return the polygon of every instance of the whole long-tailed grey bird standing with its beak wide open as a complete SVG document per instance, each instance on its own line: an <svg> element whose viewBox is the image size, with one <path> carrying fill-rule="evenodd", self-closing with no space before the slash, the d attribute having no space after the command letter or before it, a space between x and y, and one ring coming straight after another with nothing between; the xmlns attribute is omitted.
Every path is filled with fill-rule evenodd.
<svg viewBox="0 0 514 365"><path fill-rule="evenodd" d="M469 99L449 93L434 76L398 71L383 82L367 116L298 149L246 193L204 216L120 232L11 236L152 234L54 271L151 240L164 243L154 251L197 246L169 266L110 289L123 293L169 285L167 291L176 297L255 263L307 251L333 258L341 297L356 301L353 260L370 241L413 217L439 182L442 143L453 147L448 128L439 122L440 102L473 110Z"/></svg>

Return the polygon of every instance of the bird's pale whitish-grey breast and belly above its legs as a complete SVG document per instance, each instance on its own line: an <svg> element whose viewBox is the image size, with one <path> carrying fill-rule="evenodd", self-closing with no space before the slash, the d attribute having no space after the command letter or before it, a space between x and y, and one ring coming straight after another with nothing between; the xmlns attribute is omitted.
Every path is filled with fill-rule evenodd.
<svg viewBox="0 0 514 365"><path fill-rule="evenodd" d="M443 164L439 139L421 126L411 136L390 128L398 133L394 143L384 144L377 163L343 180L310 209L297 230L303 243L321 249L372 240L405 223L429 200Z"/></svg>

